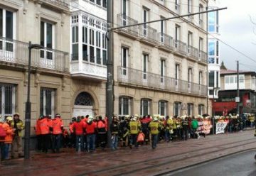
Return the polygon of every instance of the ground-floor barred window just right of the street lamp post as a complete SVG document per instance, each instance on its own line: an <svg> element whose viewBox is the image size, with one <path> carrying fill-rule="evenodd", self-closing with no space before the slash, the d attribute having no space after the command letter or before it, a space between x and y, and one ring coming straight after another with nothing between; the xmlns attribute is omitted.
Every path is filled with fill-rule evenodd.
<svg viewBox="0 0 256 176"><path fill-rule="evenodd" d="M41 88L40 92L40 114L54 117L55 89Z"/></svg>

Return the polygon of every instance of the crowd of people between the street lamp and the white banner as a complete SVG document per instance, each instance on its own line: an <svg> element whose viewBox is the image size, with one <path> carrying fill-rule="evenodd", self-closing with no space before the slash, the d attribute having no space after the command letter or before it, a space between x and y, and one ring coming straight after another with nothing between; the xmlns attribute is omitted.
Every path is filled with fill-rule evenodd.
<svg viewBox="0 0 256 176"><path fill-rule="evenodd" d="M41 116L36 122L38 150L48 153L60 152L60 146L75 148L77 152L95 152L95 148L107 145L107 132L110 131L111 149L119 147L138 148L139 145L149 145L153 149L159 141L187 140L200 138L210 133L212 127L210 116L113 116L110 128L107 117L78 116L73 117L68 130L63 128L60 114L54 119Z"/></svg>

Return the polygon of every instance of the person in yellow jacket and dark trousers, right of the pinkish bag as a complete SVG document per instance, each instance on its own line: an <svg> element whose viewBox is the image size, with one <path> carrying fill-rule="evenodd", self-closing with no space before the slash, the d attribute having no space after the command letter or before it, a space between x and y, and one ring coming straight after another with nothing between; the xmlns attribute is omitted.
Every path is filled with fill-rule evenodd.
<svg viewBox="0 0 256 176"><path fill-rule="evenodd" d="M149 131L151 133L151 144L152 144L152 149L156 149L156 144L158 142L158 136L159 136L159 131L161 130L161 126L159 124L159 121L157 117L153 117L153 121L149 123Z"/></svg>

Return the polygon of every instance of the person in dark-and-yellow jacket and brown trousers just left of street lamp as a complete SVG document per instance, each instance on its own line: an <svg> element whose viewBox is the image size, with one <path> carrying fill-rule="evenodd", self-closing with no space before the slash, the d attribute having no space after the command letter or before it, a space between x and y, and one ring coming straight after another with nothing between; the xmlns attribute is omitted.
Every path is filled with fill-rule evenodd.
<svg viewBox="0 0 256 176"><path fill-rule="evenodd" d="M11 128L14 128L14 140L11 145L11 158L15 158L16 152L18 157L23 157L22 154L22 131L25 128L23 121L18 113L14 114L14 120L11 121Z"/></svg>

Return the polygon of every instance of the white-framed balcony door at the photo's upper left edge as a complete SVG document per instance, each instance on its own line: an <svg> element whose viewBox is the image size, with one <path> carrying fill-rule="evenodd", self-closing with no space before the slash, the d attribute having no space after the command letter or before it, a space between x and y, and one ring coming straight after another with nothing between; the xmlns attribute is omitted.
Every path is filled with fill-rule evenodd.
<svg viewBox="0 0 256 176"><path fill-rule="evenodd" d="M16 62L14 60L15 13L0 9L0 56L1 60Z"/></svg>

